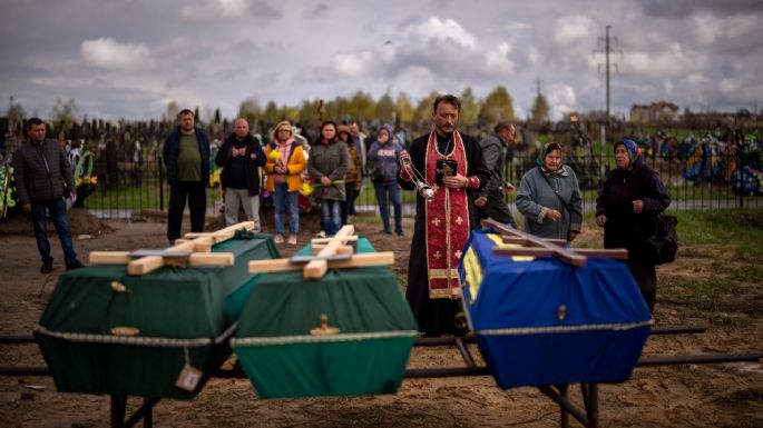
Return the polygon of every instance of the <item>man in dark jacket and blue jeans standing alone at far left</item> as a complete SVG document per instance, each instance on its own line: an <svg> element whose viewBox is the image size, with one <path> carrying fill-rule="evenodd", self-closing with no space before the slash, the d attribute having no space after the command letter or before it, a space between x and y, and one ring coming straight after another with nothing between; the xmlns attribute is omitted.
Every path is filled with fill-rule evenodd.
<svg viewBox="0 0 763 428"><path fill-rule="evenodd" d="M46 212L56 226L56 232L61 241L66 269L82 267L75 251L63 200L77 197L71 165L63 148L56 140L45 138L46 127L41 119L29 119L27 133L29 140L13 155L14 183L21 209L32 215L37 249L42 259L40 272L50 273L53 266ZM66 195L63 183L68 189Z"/></svg>

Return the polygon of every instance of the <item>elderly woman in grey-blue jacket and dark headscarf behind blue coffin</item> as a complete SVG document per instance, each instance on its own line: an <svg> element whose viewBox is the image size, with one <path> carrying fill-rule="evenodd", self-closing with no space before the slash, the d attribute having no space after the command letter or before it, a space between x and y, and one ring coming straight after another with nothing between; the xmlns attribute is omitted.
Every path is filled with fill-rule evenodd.
<svg viewBox="0 0 763 428"><path fill-rule="evenodd" d="M580 233L583 199L575 171L561 163L561 146L549 142L540 151L537 168L522 177L517 209L525 229L541 238L571 241Z"/></svg>

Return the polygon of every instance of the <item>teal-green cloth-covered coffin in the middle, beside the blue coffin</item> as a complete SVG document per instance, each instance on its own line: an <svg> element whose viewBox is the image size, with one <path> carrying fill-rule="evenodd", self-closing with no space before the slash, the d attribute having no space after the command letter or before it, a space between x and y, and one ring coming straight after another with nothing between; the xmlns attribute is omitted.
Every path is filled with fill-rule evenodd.
<svg viewBox="0 0 763 428"><path fill-rule="evenodd" d="M322 315L339 334L311 335ZM232 346L260 398L394 394L417 330L388 267L278 272L256 278Z"/></svg>

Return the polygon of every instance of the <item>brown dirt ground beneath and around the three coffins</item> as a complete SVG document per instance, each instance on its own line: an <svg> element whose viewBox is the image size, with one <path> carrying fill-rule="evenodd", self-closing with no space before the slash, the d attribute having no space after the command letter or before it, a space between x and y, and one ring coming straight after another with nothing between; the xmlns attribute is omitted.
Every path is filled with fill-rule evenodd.
<svg viewBox="0 0 763 428"><path fill-rule="evenodd" d="M70 211L76 248L82 260L92 250L162 248L162 215L143 213L131 221L99 221L87 212ZM272 213L263 215L272 231ZM300 247L317 231L317 217L303 216ZM184 221L187 227L188 221ZM356 232L378 250L395 251L395 273L404 278L412 220L404 237L379 235L371 218L355 221ZM222 227L219 220L208 230ZM600 242L598 230L585 230L581 242ZM63 271L60 246L51 240L56 262L51 275L39 273L39 256L25 217L0 223L0 335L30 335L58 275ZM281 246L284 256L293 247ZM710 260L692 259L697 251L682 248L678 260L658 270L666 278L712 275ZM694 252L693 252L694 251ZM733 252L717 251L716 260L731 262ZM683 257L682 257L683 255ZM747 322L712 325L702 335L653 336L644 356L763 351L763 288L741 283L736 301L723 307L728 317L743 313ZM742 308L744 306L744 308ZM750 309L752 308L752 309ZM658 301L657 325L704 324L679 319L679 303ZM724 316L720 313L718 316ZM476 347L472 352L479 356ZM454 348L415 348L409 368L461 365ZM42 366L35 345L0 345L0 366ZM580 402L579 389L570 388ZM130 399L128 410L140 405ZM637 368L630 380L599 387L604 427L763 427L763 366L761 362L683 365ZM109 398L57 392L49 377L0 377L1 427L104 427L109 424ZM154 409L157 427L556 427L558 407L535 388L503 391L490 377L407 379L397 395L353 398L258 400L247 379L213 379L194 400L164 399ZM579 426L573 421L571 426Z"/></svg>

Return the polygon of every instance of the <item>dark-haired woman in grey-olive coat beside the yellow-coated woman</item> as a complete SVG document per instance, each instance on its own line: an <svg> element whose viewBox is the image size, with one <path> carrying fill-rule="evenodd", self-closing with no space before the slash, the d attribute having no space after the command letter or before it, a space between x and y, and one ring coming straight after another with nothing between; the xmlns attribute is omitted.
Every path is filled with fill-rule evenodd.
<svg viewBox="0 0 763 428"><path fill-rule="evenodd" d="M342 223L340 203L345 200L348 163L348 145L339 140L336 123L323 122L321 136L310 149L307 172L316 183L313 198L321 202L323 228L327 236L336 235Z"/></svg>

